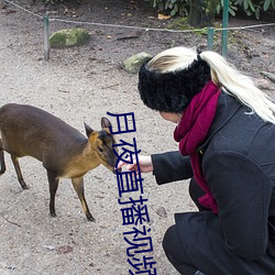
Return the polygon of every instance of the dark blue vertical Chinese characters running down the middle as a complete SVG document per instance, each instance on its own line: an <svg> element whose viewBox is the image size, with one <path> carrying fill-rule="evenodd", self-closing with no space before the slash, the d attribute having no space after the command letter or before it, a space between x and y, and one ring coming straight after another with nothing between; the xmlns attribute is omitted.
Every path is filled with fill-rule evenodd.
<svg viewBox="0 0 275 275"><path fill-rule="evenodd" d="M107 112L107 114L117 119L118 131L114 132L113 129L110 129L112 134L136 132L133 112L120 114ZM135 138L133 138L132 143L120 140L113 147L113 152L118 156L116 166L121 161L127 164L132 164L135 161L138 166L136 170L123 172L117 169L120 197L118 202L121 207L122 226L131 227L131 230L123 233L124 241L128 244L129 274L156 275L156 268L154 267L156 262L148 254L153 252L153 243L148 235L151 229L148 228L150 217L145 204L147 199L143 195L143 178L139 166L140 150L138 150Z"/></svg>

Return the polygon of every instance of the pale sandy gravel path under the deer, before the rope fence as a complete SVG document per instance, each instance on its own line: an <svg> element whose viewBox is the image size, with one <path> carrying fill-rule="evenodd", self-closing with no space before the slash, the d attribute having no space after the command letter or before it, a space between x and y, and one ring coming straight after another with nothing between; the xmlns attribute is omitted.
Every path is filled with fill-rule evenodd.
<svg viewBox="0 0 275 275"><path fill-rule="evenodd" d="M25 19L25 22L22 20ZM136 139L143 154L175 150L173 127L141 105L136 76L128 75L112 61L94 58L89 47L52 53L43 61L41 22L21 12L0 11L1 105L33 105L62 118L84 133L82 122L100 127L107 112L134 112L136 132L119 136ZM32 33L33 32L33 33ZM79 53L78 51L81 51ZM110 118L112 120L112 118ZM112 120L114 122L114 120ZM0 274L127 274L128 244L122 226L118 185L105 167L88 173L86 199L96 222L86 220L70 182L61 182L56 196L57 218L48 215L46 172L33 158L22 158L29 190L22 190L6 154L7 172L1 176ZM187 185L158 187L145 175L153 252L157 274L177 274L162 249L165 230L174 212L193 209Z"/></svg>

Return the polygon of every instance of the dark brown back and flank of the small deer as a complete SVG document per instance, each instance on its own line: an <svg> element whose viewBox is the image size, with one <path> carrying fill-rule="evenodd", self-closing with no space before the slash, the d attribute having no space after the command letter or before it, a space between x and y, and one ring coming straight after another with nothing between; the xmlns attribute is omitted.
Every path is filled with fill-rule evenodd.
<svg viewBox="0 0 275 275"><path fill-rule="evenodd" d="M6 105L0 108L0 131L3 147L16 156L46 157L76 155L87 139L55 116L26 105Z"/></svg>

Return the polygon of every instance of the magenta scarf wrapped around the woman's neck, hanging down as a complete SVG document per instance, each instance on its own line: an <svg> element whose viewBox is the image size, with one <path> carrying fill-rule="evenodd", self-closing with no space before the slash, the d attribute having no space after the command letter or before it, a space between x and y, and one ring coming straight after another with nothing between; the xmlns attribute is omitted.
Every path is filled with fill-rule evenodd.
<svg viewBox="0 0 275 275"><path fill-rule="evenodd" d="M207 82L184 110L182 120L174 132L175 141L179 142L180 153L190 156L194 177L206 191L206 195L199 198L199 204L215 213L218 213L218 206L204 176L197 148L207 138L213 122L219 95L220 88L211 80Z"/></svg>

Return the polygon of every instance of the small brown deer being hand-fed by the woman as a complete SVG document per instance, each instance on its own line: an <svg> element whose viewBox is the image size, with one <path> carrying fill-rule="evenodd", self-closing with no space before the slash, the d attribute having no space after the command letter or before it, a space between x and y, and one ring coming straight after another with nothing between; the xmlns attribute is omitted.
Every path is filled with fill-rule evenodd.
<svg viewBox="0 0 275 275"><path fill-rule="evenodd" d="M18 180L22 177L19 157L32 156L43 163L50 184L50 212L55 213L55 194L59 178L70 178L89 221L91 216L84 194L84 175L103 164L116 173L117 155L110 133L111 122L101 118L102 130L95 131L85 123L88 139L66 122L32 106L10 103L0 108L0 174L6 172L3 151L10 153Z"/></svg>

